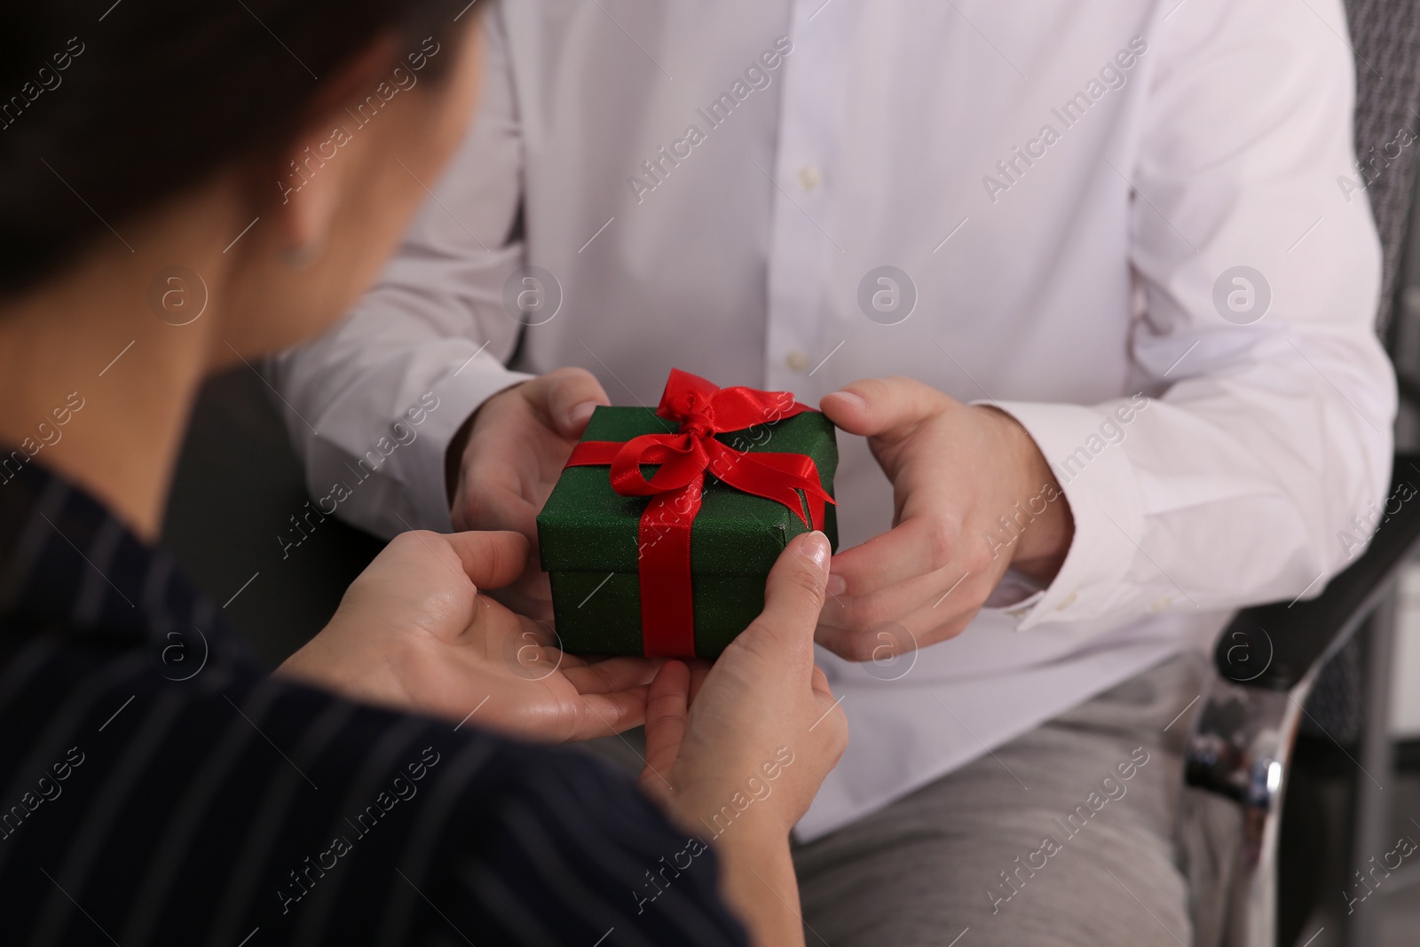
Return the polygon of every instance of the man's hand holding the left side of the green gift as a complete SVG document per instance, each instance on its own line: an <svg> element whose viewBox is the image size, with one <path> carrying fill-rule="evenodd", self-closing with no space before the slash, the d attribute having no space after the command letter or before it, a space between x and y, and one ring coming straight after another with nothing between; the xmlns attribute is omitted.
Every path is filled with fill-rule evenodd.
<svg viewBox="0 0 1420 947"><path fill-rule="evenodd" d="M521 575L498 599L552 620L552 593L538 568L537 514L552 493L577 439L598 405L609 405L601 382L581 368L559 368L498 392L479 407L466 437L449 446L456 530L511 530L531 547Z"/></svg>

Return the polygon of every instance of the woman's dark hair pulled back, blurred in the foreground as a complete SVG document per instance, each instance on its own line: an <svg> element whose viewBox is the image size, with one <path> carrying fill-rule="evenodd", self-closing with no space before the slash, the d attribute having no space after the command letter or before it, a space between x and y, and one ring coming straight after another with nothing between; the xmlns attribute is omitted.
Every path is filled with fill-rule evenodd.
<svg viewBox="0 0 1420 947"><path fill-rule="evenodd" d="M487 0L481 0L486 3ZM481 6L480 3L480 6ZM92 0L0 13L0 294L297 132L376 37L432 78L467 0ZM463 17L454 23L456 17ZM433 37L442 55L427 53ZM408 47L408 51L406 48ZM373 92L373 89L372 89ZM273 193L277 186L273 182ZM105 223L106 221L106 223ZM122 227L118 227L121 231ZM114 234L115 239L116 234Z"/></svg>

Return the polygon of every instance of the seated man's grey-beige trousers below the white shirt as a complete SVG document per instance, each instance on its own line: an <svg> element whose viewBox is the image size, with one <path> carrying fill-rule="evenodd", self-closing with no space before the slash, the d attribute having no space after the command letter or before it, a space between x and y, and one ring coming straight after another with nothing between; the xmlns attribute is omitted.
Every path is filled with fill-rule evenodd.
<svg viewBox="0 0 1420 947"><path fill-rule="evenodd" d="M797 845L807 943L1191 944L1173 819L1203 667L1174 657ZM640 731L584 745L639 772Z"/></svg>

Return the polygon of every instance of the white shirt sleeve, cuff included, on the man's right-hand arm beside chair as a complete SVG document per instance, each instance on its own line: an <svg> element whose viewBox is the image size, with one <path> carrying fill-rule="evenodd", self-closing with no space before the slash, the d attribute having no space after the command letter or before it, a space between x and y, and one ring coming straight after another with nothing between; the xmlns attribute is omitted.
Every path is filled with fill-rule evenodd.
<svg viewBox="0 0 1420 947"><path fill-rule="evenodd" d="M1172 4L1169 4L1172 6ZM1021 628L1316 595L1384 504L1394 376L1338 0L1179 6L1133 187L1137 393L1008 402L1075 517Z"/></svg>

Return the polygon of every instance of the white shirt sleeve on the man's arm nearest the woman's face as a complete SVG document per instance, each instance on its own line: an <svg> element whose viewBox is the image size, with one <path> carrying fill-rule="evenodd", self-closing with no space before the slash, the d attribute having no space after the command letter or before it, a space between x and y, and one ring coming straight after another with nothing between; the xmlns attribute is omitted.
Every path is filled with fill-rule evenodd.
<svg viewBox="0 0 1420 947"><path fill-rule="evenodd" d="M324 513L379 535L452 528L444 451L486 399L527 375L504 368L523 325L504 284L523 143L501 13L484 26L480 106L398 256L332 331L273 359L287 430Z"/></svg>

